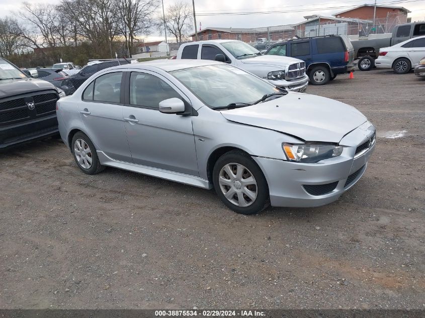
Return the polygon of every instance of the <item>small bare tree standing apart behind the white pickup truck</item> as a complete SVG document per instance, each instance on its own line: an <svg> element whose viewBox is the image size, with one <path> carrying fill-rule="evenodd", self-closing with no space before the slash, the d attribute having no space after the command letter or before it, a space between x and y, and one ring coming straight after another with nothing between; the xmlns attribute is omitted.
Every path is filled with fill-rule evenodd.
<svg viewBox="0 0 425 318"><path fill-rule="evenodd" d="M165 28L176 38L177 43L182 43L184 36L193 30L191 6L182 0L168 6L165 13Z"/></svg>

